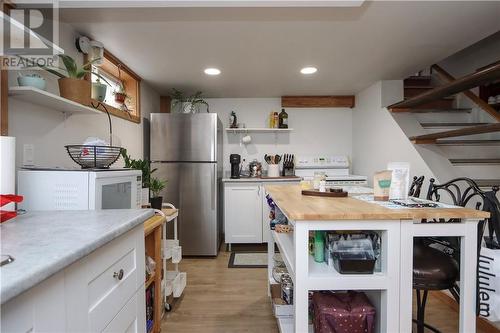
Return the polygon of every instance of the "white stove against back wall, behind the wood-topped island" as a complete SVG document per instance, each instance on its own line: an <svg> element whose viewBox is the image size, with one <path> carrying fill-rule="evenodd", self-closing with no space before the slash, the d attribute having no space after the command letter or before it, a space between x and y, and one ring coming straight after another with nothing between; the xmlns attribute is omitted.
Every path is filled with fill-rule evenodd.
<svg viewBox="0 0 500 333"><path fill-rule="evenodd" d="M326 186L364 186L366 176L350 174L347 156L301 156L296 160L295 174L304 180L313 180L314 174L324 173Z"/></svg>

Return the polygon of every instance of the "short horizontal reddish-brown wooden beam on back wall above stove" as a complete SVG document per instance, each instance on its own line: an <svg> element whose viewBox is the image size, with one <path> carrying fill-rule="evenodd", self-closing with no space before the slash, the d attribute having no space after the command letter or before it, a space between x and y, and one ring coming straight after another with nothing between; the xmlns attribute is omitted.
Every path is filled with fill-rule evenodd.
<svg viewBox="0 0 500 333"><path fill-rule="evenodd" d="M353 108L354 96L282 96L284 108Z"/></svg>

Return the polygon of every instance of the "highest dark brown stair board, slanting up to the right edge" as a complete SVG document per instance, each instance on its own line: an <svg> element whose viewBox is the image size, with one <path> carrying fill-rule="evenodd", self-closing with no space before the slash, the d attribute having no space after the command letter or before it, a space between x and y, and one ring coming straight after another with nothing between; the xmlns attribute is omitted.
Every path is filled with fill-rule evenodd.
<svg viewBox="0 0 500 333"><path fill-rule="evenodd" d="M492 64L482 70L456 79L453 82L444 84L418 96L393 104L388 108L413 108L443 97L469 90L496 79L500 79L500 63Z"/></svg>

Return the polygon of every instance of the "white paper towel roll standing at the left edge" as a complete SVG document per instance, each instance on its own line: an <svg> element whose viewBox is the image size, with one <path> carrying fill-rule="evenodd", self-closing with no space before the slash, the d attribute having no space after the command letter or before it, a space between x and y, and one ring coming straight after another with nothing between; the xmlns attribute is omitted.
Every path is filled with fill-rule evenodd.
<svg viewBox="0 0 500 333"><path fill-rule="evenodd" d="M0 194L16 193L16 138L0 136ZM14 204L2 210L14 210Z"/></svg>

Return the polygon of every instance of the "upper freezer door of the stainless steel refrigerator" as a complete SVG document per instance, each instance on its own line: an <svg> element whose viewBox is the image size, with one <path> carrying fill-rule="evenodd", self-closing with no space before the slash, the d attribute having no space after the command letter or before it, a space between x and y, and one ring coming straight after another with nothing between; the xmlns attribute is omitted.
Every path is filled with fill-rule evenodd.
<svg viewBox="0 0 500 333"><path fill-rule="evenodd" d="M151 160L217 161L217 114L151 114Z"/></svg>

